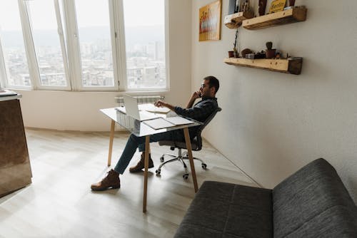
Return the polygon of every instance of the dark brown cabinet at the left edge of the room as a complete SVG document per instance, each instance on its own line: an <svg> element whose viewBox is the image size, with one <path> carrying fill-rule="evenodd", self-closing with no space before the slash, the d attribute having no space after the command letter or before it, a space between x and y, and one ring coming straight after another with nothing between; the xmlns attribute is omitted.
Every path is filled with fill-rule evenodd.
<svg viewBox="0 0 357 238"><path fill-rule="evenodd" d="M9 98L14 98L11 96ZM31 165L19 99L0 98L0 197L31 183Z"/></svg>

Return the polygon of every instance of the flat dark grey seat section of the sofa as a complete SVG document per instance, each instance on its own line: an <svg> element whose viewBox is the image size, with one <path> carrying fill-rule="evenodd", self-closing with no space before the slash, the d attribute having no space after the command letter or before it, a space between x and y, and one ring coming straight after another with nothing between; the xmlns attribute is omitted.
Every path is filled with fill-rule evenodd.
<svg viewBox="0 0 357 238"><path fill-rule="evenodd" d="M271 190L203 182L175 237L273 237Z"/></svg>

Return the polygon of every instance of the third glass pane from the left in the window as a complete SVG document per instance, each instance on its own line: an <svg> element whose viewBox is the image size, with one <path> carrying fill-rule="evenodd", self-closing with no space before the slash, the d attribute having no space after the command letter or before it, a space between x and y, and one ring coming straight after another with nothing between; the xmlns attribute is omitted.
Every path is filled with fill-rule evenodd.
<svg viewBox="0 0 357 238"><path fill-rule="evenodd" d="M76 16L82 85L114 86L108 1L76 0Z"/></svg>

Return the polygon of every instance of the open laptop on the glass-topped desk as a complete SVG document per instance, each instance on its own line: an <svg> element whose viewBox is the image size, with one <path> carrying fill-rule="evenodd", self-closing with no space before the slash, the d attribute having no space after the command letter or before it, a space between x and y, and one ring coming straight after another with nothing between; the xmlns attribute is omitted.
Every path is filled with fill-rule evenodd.
<svg viewBox="0 0 357 238"><path fill-rule="evenodd" d="M132 118L140 121L160 118L159 115L154 113L148 113L144 110L139 110L138 100L131 95L123 95L123 98L125 108L118 108L118 110L120 110L122 113L126 113L126 115L130 115Z"/></svg>

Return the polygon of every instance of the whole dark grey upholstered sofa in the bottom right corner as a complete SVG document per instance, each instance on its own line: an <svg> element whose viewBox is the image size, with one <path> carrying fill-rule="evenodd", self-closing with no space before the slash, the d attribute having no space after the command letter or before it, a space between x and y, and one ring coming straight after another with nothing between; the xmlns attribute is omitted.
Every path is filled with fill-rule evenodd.
<svg viewBox="0 0 357 238"><path fill-rule="evenodd" d="M175 237L357 237L357 208L318 159L273 190L203 182Z"/></svg>

